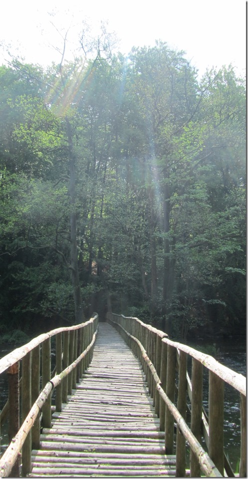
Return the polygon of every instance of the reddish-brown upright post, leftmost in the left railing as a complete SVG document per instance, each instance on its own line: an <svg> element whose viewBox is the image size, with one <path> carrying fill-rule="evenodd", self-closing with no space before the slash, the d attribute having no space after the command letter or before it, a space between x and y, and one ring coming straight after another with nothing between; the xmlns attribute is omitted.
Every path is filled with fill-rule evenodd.
<svg viewBox="0 0 248 479"><path fill-rule="evenodd" d="M17 434L19 424L19 362L17 361L7 369L8 380L8 401L9 401L9 425L8 425L8 441ZM20 458L18 457L12 467L11 478L20 477Z"/></svg>

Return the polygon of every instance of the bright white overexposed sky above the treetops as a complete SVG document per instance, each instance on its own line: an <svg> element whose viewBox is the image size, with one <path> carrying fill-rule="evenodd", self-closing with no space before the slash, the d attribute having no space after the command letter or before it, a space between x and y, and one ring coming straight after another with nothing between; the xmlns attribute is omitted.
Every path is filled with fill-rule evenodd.
<svg viewBox="0 0 248 479"><path fill-rule="evenodd" d="M185 50L200 76L207 67L230 63L238 74L246 73L246 0L5 0L0 43L10 43L12 52L18 48L27 62L59 62L55 47L62 47L62 39L56 28L63 32L70 27L72 40L87 18L93 25L108 20L123 53L161 39ZM0 64L6 57L0 47Z"/></svg>

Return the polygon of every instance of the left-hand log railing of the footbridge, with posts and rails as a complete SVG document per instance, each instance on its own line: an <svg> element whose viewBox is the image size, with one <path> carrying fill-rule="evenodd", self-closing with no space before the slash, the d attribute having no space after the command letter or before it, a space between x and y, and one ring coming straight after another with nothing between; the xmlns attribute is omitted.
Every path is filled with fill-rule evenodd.
<svg viewBox="0 0 248 479"><path fill-rule="evenodd" d="M61 411L62 402L67 401L92 359L97 326L95 314L85 323L41 334L0 359L0 374L6 371L8 378L8 401L0 423L8 418L10 442L0 459L1 478L25 477L31 472L31 449L39 448L40 423L51 427L52 392L56 388L55 409ZM56 365L52 372L54 337Z"/></svg>

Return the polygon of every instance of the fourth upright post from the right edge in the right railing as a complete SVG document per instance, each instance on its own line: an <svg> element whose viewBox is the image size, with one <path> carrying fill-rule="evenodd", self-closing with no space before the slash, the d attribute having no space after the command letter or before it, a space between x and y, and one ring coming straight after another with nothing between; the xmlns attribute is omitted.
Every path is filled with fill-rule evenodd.
<svg viewBox="0 0 248 479"><path fill-rule="evenodd" d="M181 416L186 419L187 409L187 354L180 351L179 356L179 382L178 382L178 402L177 408ZM185 437L177 427L177 446L176 446L176 477L184 478L186 470L186 441Z"/></svg>

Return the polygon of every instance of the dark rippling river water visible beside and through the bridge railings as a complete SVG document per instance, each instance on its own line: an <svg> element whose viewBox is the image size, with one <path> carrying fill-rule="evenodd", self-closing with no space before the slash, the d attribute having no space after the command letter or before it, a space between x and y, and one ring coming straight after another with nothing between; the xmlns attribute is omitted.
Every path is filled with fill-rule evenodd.
<svg viewBox="0 0 248 479"><path fill-rule="evenodd" d="M246 376L246 340L213 339L188 342L189 346L199 349L213 356L217 361L233 369L237 373ZM0 357L3 357L13 348L9 345L1 345ZM206 368L204 368L206 369ZM204 377L204 407L208 411L207 375ZM0 376L0 409L6 398L6 375ZM225 385L225 412L224 412L224 441L228 451L227 456L235 472L238 468L237 458L240 456L240 395L231 386ZM6 428L1 428L0 452L7 447Z"/></svg>

